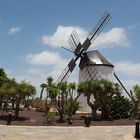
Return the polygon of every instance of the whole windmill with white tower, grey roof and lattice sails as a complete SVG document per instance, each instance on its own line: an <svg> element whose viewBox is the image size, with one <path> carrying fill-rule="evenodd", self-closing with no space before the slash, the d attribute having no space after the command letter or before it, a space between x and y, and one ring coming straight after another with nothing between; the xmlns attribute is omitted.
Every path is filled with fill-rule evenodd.
<svg viewBox="0 0 140 140"><path fill-rule="evenodd" d="M68 43L73 51L68 50L66 48L64 49L74 53L75 57L70 60L68 65L62 71L62 73L56 80L56 84L60 84L62 82L67 81L67 79L69 78L70 74L73 72L76 66L76 61L80 59L79 82L100 79L107 79L112 81L110 77L115 76L115 78L120 83L125 92L128 94L128 96L131 97L131 94L126 90L122 82L119 80L119 78L113 71L114 66L98 50L87 52L90 45L95 41L95 39L98 37L98 35L101 33L101 31L104 29L105 25L109 22L110 19L111 14L106 11L98 21L96 26L93 28L89 36L83 42L83 44L81 44L76 30L72 31L68 39ZM85 99L82 96L80 98L80 102L84 103ZM86 108L84 106L85 104L83 104L82 107Z"/></svg>

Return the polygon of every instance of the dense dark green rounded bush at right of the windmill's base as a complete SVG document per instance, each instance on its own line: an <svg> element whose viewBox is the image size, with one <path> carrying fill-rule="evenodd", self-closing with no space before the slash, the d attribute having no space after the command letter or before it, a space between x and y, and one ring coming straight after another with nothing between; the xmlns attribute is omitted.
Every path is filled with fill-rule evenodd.
<svg viewBox="0 0 140 140"><path fill-rule="evenodd" d="M102 118L125 119L132 116L132 103L121 95L115 95L112 99L104 102L100 106Z"/></svg>

